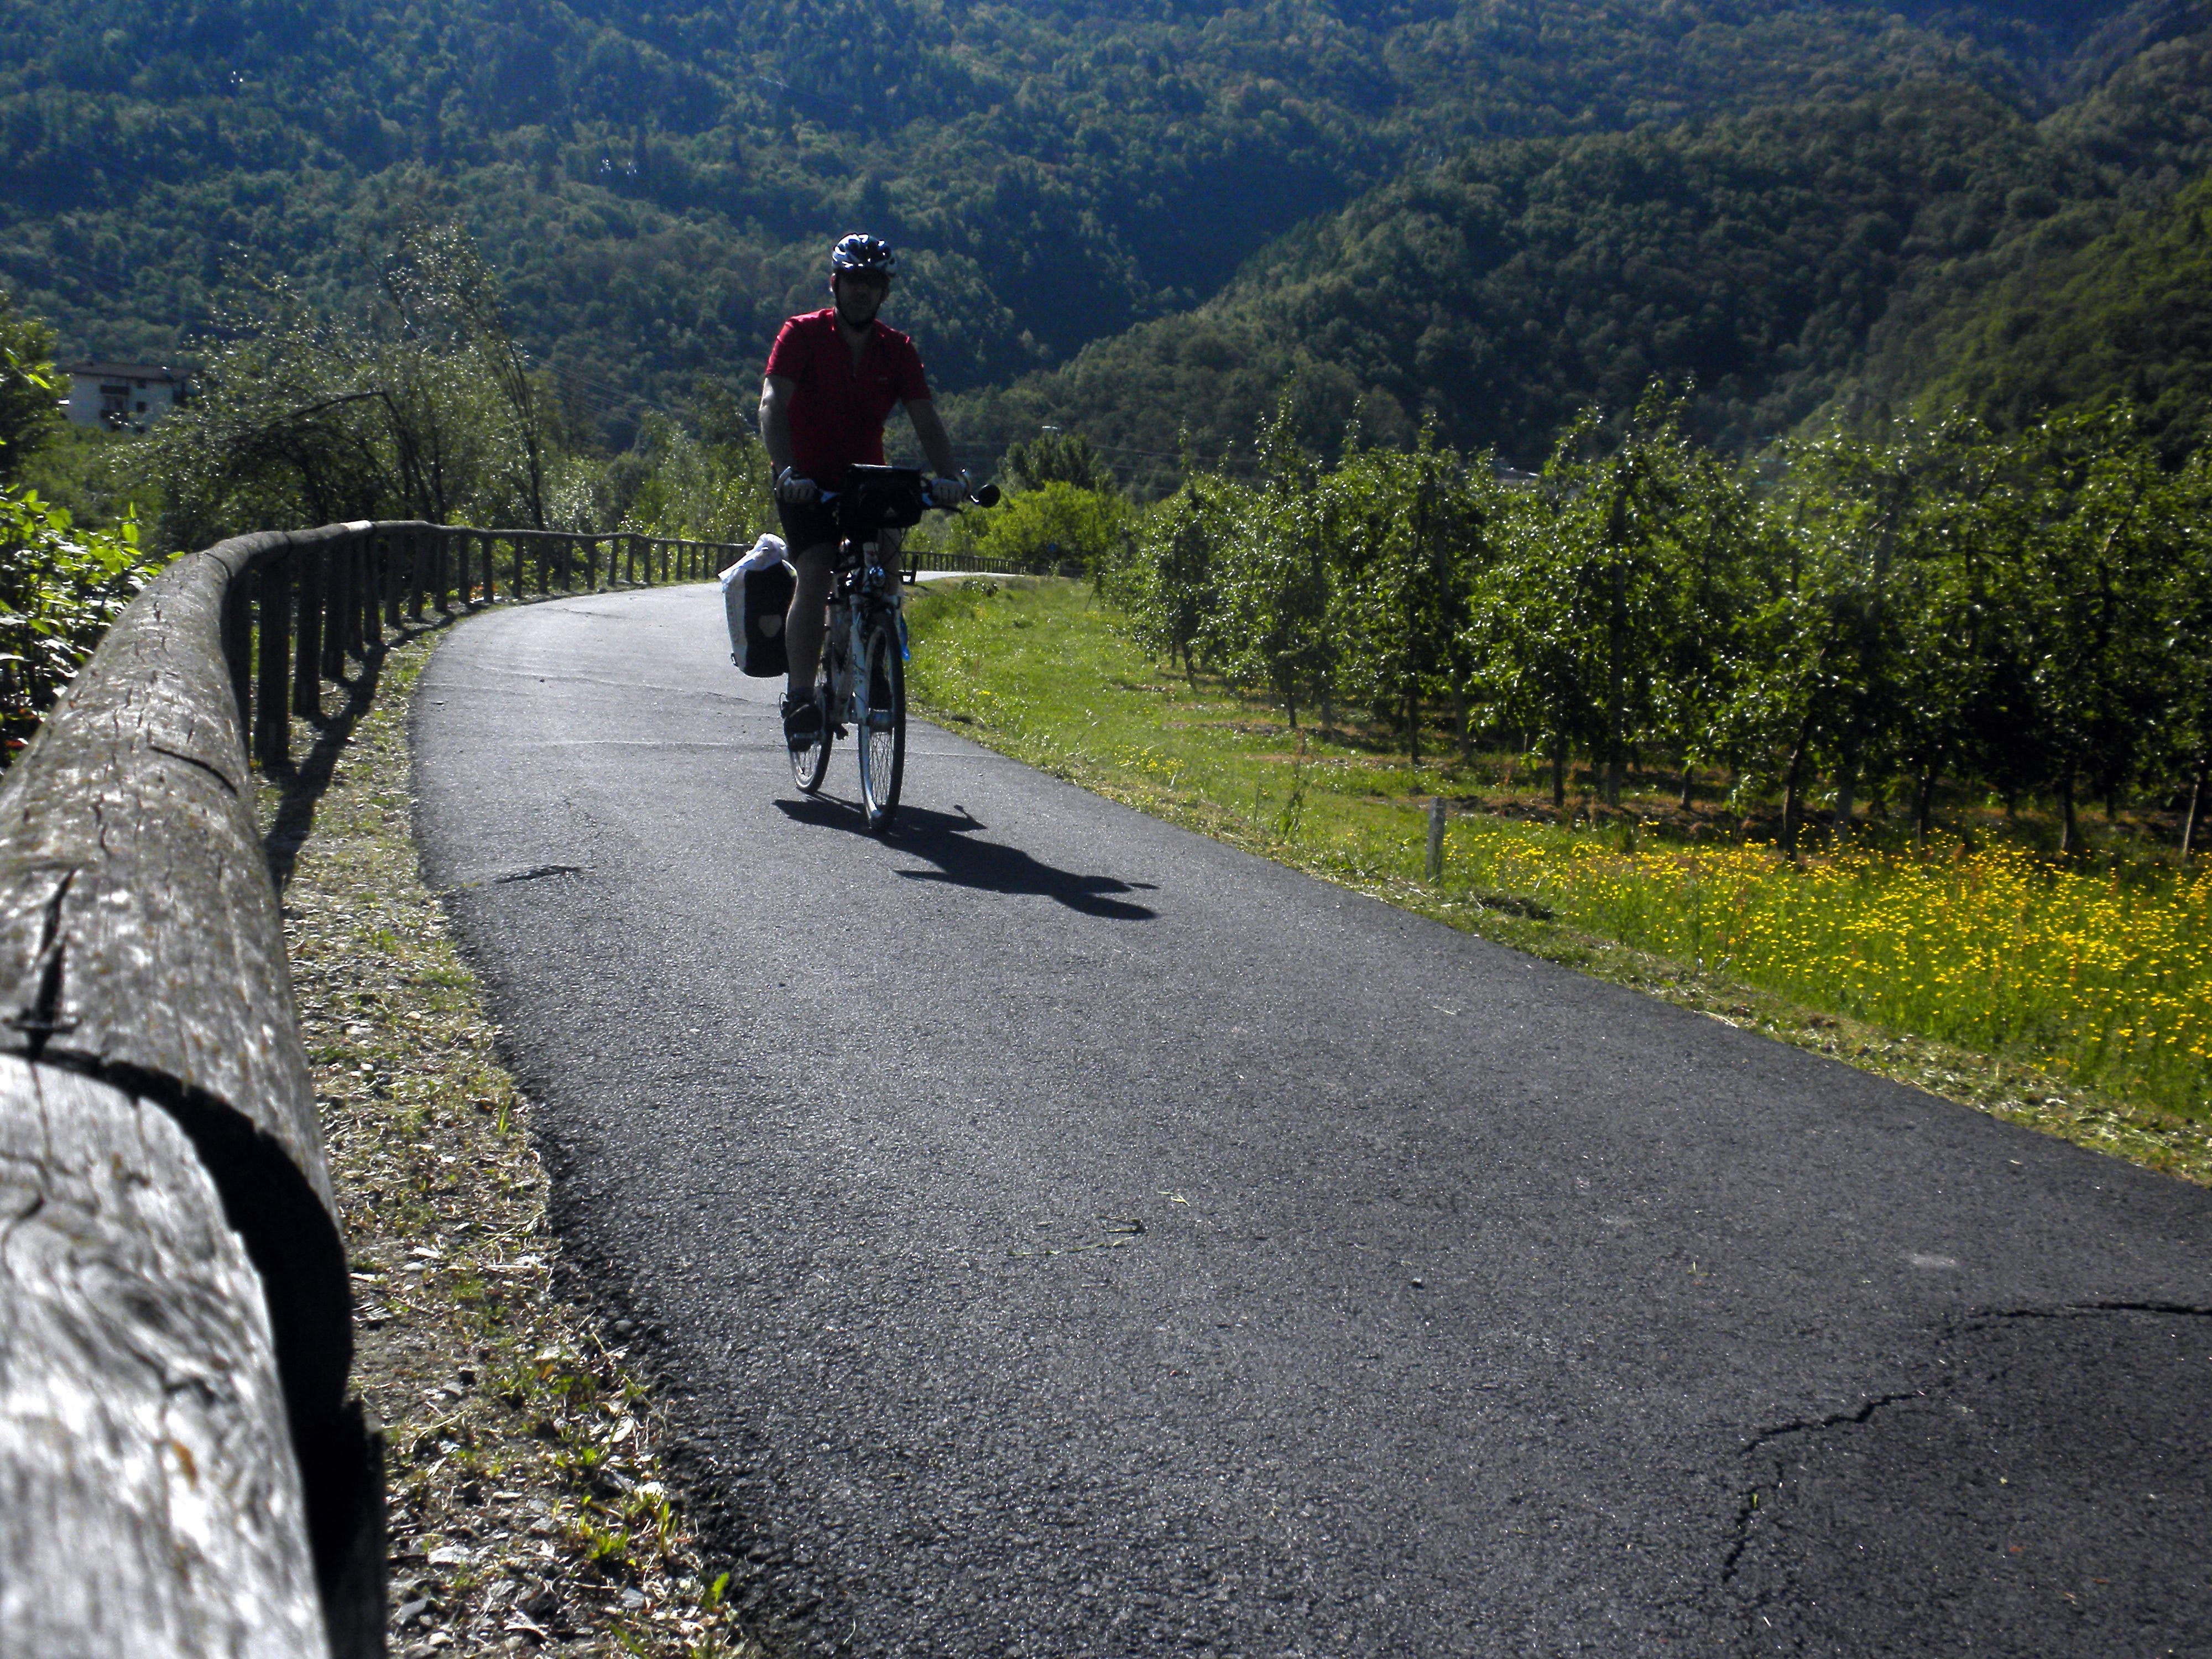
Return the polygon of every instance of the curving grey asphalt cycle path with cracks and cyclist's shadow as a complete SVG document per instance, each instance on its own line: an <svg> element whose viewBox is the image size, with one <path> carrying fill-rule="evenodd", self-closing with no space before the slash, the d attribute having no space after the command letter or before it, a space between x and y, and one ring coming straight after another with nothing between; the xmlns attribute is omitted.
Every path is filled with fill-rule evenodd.
<svg viewBox="0 0 2212 1659"><path fill-rule="evenodd" d="M801 801L697 586L416 703L781 1650L2212 1650L2212 1194L914 739Z"/></svg>

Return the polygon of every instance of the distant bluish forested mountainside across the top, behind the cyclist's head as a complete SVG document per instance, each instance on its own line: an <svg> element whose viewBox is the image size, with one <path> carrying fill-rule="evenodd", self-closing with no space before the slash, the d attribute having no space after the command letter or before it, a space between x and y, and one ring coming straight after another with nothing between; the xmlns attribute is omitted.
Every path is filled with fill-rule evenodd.
<svg viewBox="0 0 2212 1659"><path fill-rule="evenodd" d="M1391 204L1449 221L1455 192L1542 197L1546 168L1584 155L1575 135L1812 97L1889 93L1913 108L1911 88L1931 80L1951 88L1942 119L1969 135L2024 126L2068 77L2106 75L2192 7L1902 13L1756 0L9 0L0 281L58 323L64 352L168 358L239 274L290 274L341 303L400 226L458 219L502 270L524 343L622 436L635 392L677 403L699 374L748 376L774 321L816 292L823 241L854 223L916 250L900 316L947 387L980 387L1210 301L1272 237L1347 201L1352 217L1301 232L1270 279L1307 294L1307 310L1402 263L1352 246ZM1820 177L1792 170L1781 122L1703 126L1679 161L1644 135L1606 155L1624 188L1639 166L1674 166L1686 210L1708 190L1750 199L1770 177L1818 190ZM1933 126L1905 133L1896 155L1874 139L1827 146L1856 217L1805 234L1847 288L1880 290L1882 270L1860 268L1896 250L1854 250L1889 232L1849 226L1898 219L1896 188L1874 175L1893 159L1927 173L1947 142ZM1741 164L1714 148L1734 133L1754 150ZM1383 195L1363 199L1371 190ZM1604 190L1573 184L1568 212L1593 197ZM1482 212L1506 234L1495 215L1513 208ZM1756 239L1776 208L1752 204L1750 217ZM1332 276L1338 250L1349 263ZM1254 281L1223 301L1223 325L1265 312ZM1834 305L1849 327L1856 301L1816 290L1763 301L1761 327ZM1347 312L1343 338L1398 321ZM1836 356L1823 341L1805 347L1814 378ZM1464 343L1444 358L1400 345L1405 361L1376 383L1411 418L1431 358L1433 374L1458 374ZM1750 349L1728 394L1743 422L1772 396L1759 385L1767 347ZM1533 429L1559 396L1531 389L1500 429ZM1785 389L1772 409L1794 400L1803 392Z"/></svg>

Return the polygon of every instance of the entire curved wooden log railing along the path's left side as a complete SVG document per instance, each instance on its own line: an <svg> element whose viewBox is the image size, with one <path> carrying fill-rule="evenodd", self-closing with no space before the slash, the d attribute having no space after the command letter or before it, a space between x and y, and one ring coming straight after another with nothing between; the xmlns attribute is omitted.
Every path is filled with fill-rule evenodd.
<svg viewBox="0 0 2212 1659"><path fill-rule="evenodd" d="M332 524L175 562L0 790L0 1652L385 1652L383 1451L252 759L405 617L741 549Z"/></svg>

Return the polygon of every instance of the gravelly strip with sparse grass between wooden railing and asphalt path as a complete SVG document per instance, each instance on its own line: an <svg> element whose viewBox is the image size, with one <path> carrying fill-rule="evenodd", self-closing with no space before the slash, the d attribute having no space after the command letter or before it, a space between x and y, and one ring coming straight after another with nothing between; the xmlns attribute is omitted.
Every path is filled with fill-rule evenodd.
<svg viewBox="0 0 2212 1659"><path fill-rule="evenodd" d="M407 703L434 644L294 723L305 759L261 792L387 1436L392 1650L752 1659L622 1325L562 1294L531 1106L418 874Z"/></svg>

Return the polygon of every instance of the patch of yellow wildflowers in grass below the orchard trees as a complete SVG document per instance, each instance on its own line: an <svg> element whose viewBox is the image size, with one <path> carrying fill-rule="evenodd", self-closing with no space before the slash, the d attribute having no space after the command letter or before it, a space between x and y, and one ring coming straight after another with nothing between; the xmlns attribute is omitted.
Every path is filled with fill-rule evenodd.
<svg viewBox="0 0 2212 1659"><path fill-rule="evenodd" d="M2212 1097L2212 876L2066 869L2022 847L1624 849L1458 827L1467 880L1573 927L1834 1013L2199 1113Z"/></svg>

